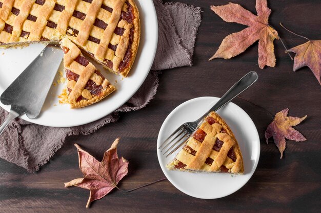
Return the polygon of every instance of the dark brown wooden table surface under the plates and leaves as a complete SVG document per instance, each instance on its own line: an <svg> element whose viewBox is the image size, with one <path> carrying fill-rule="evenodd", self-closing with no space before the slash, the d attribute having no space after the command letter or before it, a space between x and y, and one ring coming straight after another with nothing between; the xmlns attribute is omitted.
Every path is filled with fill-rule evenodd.
<svg viewBox="0 0 321 213"><path fill-rule="evenodd" d="M275 68L258 68L257 42L235 58L209 62L223 38L245 26L227 23L210 10L210 5L225 5L228 1L182 2L201 7L204 11L193 66L164 70L159 75L155 98L147 107L122 113L118 122L108 124L91 135L68 137L49 163L35 174L0 159L0 212L319 212L321 86L311 70L304 67L294 73L293 61L284 53L279 40L274 41ZM231 2L256 14L254 0ZM268 5L272 9L270 24L289 48L306 41L282 29L279 22L311 40L321 39L320 1L270 0ZM127 190L164 178L157 160L156 139L166 116L189 99L222 96L250 70L258 73L259 80L242 97L273 114L285 108L290 109L292 116L307 114L307 119L295 127L307 141L288 141L284 158L280 159L273 141L267 145L264 139L271 117L265 110L235 99L233 102L251 116L257 127L261 153L254 175L234 194L202 200L183 194L164 180L130 193L113 190L86 210L89 191L78 187L64 188L64 182L82 177L74 143L101 160L103 152L116 137L122 137L119 156L130 162L129 174L119 187Z"/></svg>

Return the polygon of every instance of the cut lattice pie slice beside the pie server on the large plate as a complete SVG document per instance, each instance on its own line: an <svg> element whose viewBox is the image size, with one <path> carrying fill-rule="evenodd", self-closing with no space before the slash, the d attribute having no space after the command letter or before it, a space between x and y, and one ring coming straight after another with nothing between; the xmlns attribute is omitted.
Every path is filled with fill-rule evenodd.
<svg viewBox="0 0 321 213"><path fill-rule="evenodd" d="M67 78L68 103L71 108L81 108L96 103L115 87L83 56L81 50L64 38L61 42Z"/></svg>

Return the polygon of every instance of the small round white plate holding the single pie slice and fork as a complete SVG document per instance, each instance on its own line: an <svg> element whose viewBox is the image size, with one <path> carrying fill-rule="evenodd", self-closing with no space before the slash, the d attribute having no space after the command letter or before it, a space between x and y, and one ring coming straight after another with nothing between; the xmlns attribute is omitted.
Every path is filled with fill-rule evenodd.
<svg viewBox="0 0 321 213"><path fill-rule="evenodd" d="M201 97L176 107L165 119L157 138L157 156L167 179L183 193L203 199L215 199L230 195L242 187L253 175L260 153L259 137L249 115L240 107L229 103L217 111L233 131L244 160L244 175L227 173L189 173L169 171L169 163L180 149L165 158L158 149L160 144L180 125L195 121L209 110L219 98Z"/></svg>

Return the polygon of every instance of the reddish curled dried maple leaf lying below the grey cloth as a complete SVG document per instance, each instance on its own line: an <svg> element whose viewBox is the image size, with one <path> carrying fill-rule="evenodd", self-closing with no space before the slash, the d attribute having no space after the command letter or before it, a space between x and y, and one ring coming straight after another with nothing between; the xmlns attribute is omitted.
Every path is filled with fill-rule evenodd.
<svg viewBox="0 0 321 213"><path fill-rule="evenodd" d="M128 173L128 161L123 157L118 159L118 142L119 138L104 153L102 162L75 144L78 150L79 168L83 172L84 178L77 178L65 183L65 187L78 186L90 190L86 208L92 201L103 198L117 187L118 182Z"/></svg>

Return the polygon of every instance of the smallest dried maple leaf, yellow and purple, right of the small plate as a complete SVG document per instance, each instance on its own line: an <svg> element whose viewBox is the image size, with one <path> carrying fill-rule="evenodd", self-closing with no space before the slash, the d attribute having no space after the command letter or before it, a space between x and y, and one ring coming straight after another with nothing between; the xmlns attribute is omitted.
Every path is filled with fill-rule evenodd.
<svg viewBox="0 0 321 213"><path fill-rule="evenodd" d="M292 126L296 126L306 119L307 115L304 117L291 117L287 116L289 109L284 109L275 114L274 121L268 126L265 131L265 139L268 143L268 139L273 136L274 143L283 157L283 152L285 150L286 141L285 138L294 141L304 141L306 138L299 133L297 130L293 129Z"/></svg>

